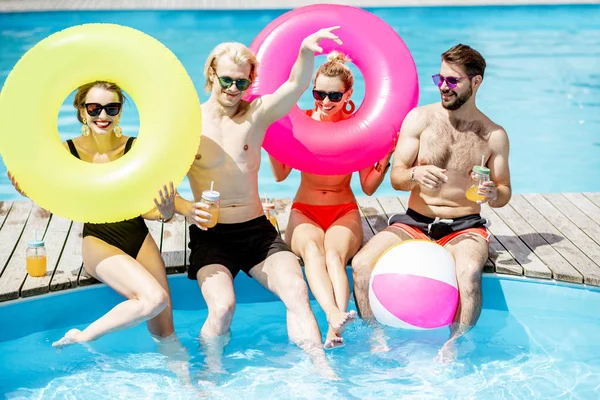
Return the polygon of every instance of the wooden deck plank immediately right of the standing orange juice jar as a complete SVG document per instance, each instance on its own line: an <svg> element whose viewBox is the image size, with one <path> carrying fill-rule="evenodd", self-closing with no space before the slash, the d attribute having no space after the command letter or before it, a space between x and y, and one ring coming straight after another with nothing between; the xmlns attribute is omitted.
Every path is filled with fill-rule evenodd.
<svg viewBox="0 0 600 400"><path fill-rule="evenodd" d="M44 234L46 246L47 273L42 277L27 276L21 289L21 297L35 296L50 291L50 281L54 276L54 270L58 265L61 254L67 242L71 220L52 215L50 224Z"/></svg>

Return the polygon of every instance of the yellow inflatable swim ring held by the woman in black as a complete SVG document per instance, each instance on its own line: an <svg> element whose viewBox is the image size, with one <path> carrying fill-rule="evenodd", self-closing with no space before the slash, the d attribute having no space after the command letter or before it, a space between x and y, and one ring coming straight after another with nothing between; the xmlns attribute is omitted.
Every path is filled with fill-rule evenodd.
<svg viewBox="0 0 600 400"><path fill-rule="evenodd" d="M65 98L95 80L121 86L140 115L136 144L106 164L73 157L57 128ZM6 167L33 201L76 221L115 222L152 209L163 184L185 177L200 132L198 94L183 65L158 40L120 25L50 35L19 60L0 93Z"/></svg>

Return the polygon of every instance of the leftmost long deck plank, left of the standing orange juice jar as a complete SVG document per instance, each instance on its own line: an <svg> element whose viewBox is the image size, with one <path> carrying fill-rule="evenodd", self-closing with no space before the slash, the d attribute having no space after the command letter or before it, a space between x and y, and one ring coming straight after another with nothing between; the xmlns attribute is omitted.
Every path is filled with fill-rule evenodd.
<svg viewBox="0 0 600 400"><path fill-rule="evenodd" d="M15 201L8 215L5 216L2 230L0 230L0 282L10 256L25 228L32 206L33 202L31 201Z"/></svg>

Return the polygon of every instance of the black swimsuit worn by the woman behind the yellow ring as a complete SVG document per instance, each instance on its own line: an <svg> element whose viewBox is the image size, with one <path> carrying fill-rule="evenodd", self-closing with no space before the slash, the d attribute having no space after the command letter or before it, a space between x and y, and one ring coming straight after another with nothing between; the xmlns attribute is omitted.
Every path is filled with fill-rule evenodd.
<svg viewBox="0 0 600 400"><path fill-rule="evenodd" d="M135 138L129 138L125 144L125 153L131 149ZM79 153L75 148L72 140L67 140L67 145L71 154L75 157L79 157ZM129 254L133 258L137 258L137 255L146 240L148 235L148 227L144 222L144 219L135 217L121 222L111 222L105 224L91 224L85 223L83 225L83 237L93 236L96 237L111 246L115 246L118 249L123 250L126 254Z"/></svg>

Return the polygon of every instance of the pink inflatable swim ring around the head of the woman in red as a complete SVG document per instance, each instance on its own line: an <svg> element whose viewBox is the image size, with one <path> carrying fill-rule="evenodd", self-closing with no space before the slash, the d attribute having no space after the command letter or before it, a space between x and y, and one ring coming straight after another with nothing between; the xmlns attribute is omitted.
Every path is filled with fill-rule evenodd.
<svg viewBox="0 0 600 400"><path fill-rule="evenodd" d="M400 36L365 10L332 4L287 12L254 39L250 48L260 65L250 98L273 93L288 79L306 36L337 25L343 44L320 45L323 53L339 50L352 58L365 80L363 103L335 123L315 121L296 106L269 127L263 144L280 162L321 175L352 173L383 158L419 98L417 69Z"/></svg>

